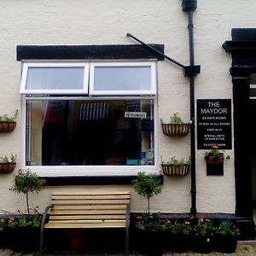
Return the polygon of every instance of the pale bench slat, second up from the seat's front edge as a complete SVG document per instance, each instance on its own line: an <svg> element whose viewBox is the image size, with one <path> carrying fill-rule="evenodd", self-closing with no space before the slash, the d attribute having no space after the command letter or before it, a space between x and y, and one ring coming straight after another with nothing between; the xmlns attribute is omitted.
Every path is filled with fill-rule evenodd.
<svg viewBox="0 0 256 256"><path fill-rule="evenodd" d="M125 219L125 215L50 215L49 220L59 219Z"/></svg>

